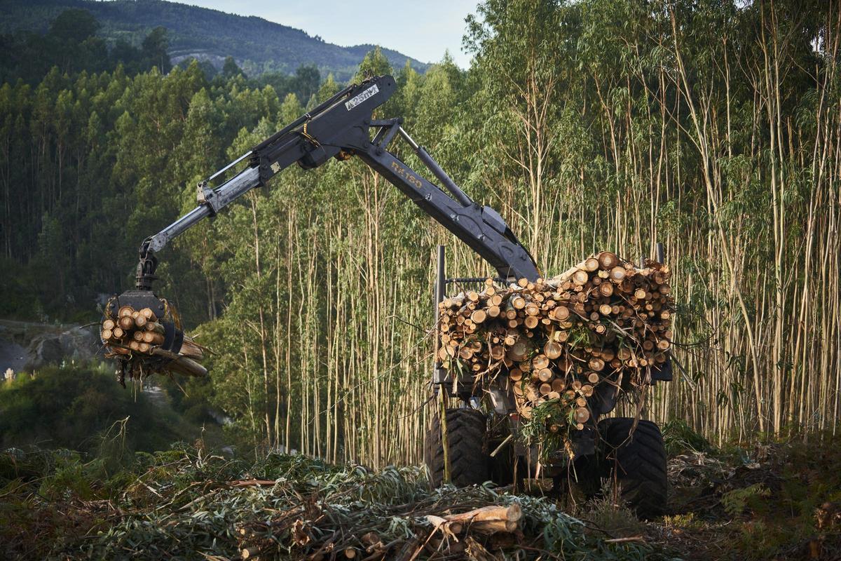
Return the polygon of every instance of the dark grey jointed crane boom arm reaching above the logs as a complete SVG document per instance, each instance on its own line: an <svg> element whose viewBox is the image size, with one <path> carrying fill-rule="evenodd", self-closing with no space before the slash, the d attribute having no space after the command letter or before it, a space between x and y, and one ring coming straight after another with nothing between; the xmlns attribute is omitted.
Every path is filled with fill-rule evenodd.
<svg viewBox="0 0 841 561"><path fill-rule="evenodd" d="M358 156L393 183L426 214L495 267L500 277L535 280L539 275L532 256L499 213L475 203L458 188L432 156L403 130L401 119L372 119L373 110L391 97L395 87L394 78L387 75L346 87L199 183L198 206L156 235L146 238L140 246L137 288L151 289L151 282L156 278L155 253L200 220L214 216L251 189L266 185L269 179L294 163L309 169L323 165L331 157L344 160L351 156ZM372 130L375 131L373 140ZM410 144L448 193L387 150L397 135ZM211 181L241 161L247 161L245 169L218 187L209 187Z"/></svg>

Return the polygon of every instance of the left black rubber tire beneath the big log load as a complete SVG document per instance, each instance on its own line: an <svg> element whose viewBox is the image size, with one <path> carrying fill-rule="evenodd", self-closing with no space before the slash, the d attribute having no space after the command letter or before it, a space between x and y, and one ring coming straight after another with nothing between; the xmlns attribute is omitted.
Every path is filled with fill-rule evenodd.
<svg viewBox="0 0 841 561"><path fill-rule="evenodd" d="M490 457L484 449L487 422L481 411L447 410L447 442L449 444L450 479L458 487L483 484L490 479ZM444 480L444 447L441 442L441 419L432 419L426 432L424 459L433 487Z"/></svg>

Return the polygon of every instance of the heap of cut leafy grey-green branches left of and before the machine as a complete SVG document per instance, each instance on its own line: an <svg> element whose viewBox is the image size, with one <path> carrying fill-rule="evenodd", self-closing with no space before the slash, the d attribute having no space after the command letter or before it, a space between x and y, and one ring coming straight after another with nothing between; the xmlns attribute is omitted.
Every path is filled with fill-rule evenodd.
<svg viewBox="0 0 841 561"><path fill-rule="evenodd" d="M9 558L238 558L255 544L262 558L331 558L364 551L367 532L391 544L383 558L412 548L415 558L441 558L446 544L431 547L427 514L513 502L521 536L477 547L520 558L664 558L643 542L606 541L547 498L490 484L431 490L418 467L373 471L277 453L255 463L177 445L135 453L108 473L98 458L65 450L0 453L0 550Z"/></svg>

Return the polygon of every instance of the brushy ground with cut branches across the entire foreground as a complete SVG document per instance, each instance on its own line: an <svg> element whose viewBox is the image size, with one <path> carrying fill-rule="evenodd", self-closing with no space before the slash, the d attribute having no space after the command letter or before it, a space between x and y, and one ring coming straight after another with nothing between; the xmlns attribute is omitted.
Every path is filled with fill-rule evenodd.
<svg viewBox="0 0 841 561"><path fill-rule="evenodd" d="M639 521L609 487L582 503L491 484L431 490L421 467L232 458L201 441L130 453L118 423L96 453L0 452L0 555L234 559L257 548L263 559L341 559L351 550L372 559L841 558L841 438L722 449L674 426L664 431L676 451L669 515ZM514 502L521 535L483 537L458 554L426 519Z"/></svg>

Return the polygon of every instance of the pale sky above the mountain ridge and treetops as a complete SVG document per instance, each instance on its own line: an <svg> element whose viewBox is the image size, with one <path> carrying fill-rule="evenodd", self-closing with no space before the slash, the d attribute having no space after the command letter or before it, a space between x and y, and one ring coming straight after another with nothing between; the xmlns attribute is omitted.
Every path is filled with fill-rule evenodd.
<svg viewBox="0 0 841 561"><path fill-rule="evenodd" d="M336 0L177 0L228 13L258 16L303 29L336 45L370 43L399 50L421 62L441 61L449 50L458 66L470 57L462 51L464 18L479 0L373 2Z"/></svg>

